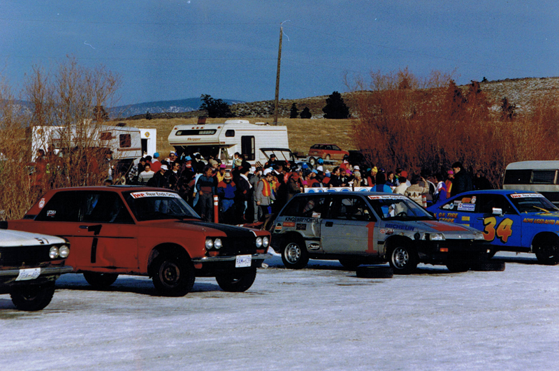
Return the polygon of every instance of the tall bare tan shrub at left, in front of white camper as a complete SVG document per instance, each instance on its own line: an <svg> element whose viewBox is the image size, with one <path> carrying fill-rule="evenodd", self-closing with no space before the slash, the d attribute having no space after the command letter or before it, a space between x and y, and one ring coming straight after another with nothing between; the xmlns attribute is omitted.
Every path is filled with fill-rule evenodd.
<svg viewBox="0 0 559 371"><path fill-rule="evenodd" d="M102 184L112 161L103 143L104 107L115 103L118 75L103 66L85 68L73 58L54 73L34 67L22 98L29 112L15 104L7 83L0 106L0 210L22 217L51 188ZM33 139L33 140L32 140ZM31 143L34 143L32 145Z"/></svg>

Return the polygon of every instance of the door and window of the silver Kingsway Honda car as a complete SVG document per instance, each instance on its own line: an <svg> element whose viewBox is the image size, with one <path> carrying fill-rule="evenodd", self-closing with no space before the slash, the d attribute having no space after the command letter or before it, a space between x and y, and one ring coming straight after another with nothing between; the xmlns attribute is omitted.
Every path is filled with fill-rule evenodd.
<svg viewBox="0 0 559 371"><path fill-rule="evenodd" d="M330 214L321 220L326 254L377 255L373 243L375 216L361 196L334 194Z"/></svg>

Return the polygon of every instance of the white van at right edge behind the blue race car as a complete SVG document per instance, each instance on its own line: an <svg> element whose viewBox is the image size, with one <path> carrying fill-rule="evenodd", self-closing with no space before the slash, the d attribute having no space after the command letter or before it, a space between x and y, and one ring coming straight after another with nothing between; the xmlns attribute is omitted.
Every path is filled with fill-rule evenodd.
<svg viewBox="0 0 559 371"><path fill-rule="evenodd" d="M519 161L507 165L502 189L536 191L559 204L559 161Z"/></svg>

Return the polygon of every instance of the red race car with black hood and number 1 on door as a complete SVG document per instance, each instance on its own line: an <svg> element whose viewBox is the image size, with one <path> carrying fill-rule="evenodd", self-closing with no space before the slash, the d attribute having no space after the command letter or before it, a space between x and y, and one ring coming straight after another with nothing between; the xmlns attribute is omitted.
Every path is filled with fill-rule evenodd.
<svg viewBox="0 0 559 371"><path fill-rule="evenodd" d="M195 277L246 291L270 256L267 231L204 222L176 192L159 188L55 189L8 228L69 240L66 264L92 286L147 275L164 296L186 295Z"/></svg>

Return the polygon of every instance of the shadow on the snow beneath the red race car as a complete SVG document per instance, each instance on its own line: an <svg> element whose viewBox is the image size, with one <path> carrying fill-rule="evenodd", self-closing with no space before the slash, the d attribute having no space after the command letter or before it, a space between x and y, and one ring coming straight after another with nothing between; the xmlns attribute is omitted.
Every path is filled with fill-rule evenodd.
<svg viewBox="0 0 559 371"><path fill-rule="evenodd" d="M73 277L66 277L73 276ZM56 283L57 290L78 290L78 291L102 291L102 292L126 292L126 293L138 293L140 295L149 296L161 296L161 294L153 286L152 280L147 277L129 277L129 276L119 276L114 284L108 286L106 289L99 289L90 286L83 275L71 274L63 275L57 280ZM196 292L208 292L208 291L223 291L217 282L212 284L210 282L196 282L194 287L190 291L191 293ZM11 303L11 302L10 302ZM1 309L1 307L0 307Z"/></svg>

